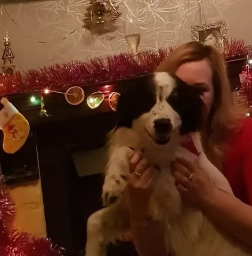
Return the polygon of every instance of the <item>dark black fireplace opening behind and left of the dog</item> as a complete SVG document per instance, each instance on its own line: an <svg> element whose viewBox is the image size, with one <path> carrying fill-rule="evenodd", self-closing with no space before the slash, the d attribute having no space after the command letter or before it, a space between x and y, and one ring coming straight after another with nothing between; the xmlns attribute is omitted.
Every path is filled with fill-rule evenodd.
<svg viewBox="0 0 252 256"><path fill-rule="evenodd" d="M36 127L47 236L84 255L87 218L102 208L107 133L116 114L100 113ZM132 243L108 246L108 256L135 256Z"/></svg>

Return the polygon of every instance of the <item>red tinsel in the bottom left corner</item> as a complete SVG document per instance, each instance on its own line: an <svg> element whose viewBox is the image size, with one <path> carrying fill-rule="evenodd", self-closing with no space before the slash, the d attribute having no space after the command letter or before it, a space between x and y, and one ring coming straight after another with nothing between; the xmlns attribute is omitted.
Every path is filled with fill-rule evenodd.
<svg viewBox="0 0 252 256"><path fill-rule="evenodd" d="M55 247L48 238L36 238L26 232L13 230L14 203L0 177L0 256L62 256L63 249Z"/></svg>

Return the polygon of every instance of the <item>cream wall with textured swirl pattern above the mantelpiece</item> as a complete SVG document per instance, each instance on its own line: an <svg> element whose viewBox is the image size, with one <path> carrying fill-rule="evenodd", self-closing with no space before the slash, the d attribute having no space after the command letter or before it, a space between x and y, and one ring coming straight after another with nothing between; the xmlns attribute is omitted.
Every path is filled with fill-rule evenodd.
<svg viewBox="0 0 252 256"><path fill-rule="evenodd" d="M76 59L87 60L94 55L125 51L123 19L126 17L137 17L140 21L142 50L189 41L191 26L199 24L198 0L118 0L116 3L123 12L118 20L119 29L115 33L94 37L82 29L82 20L89 0L14 2L2 5L0 36L3 38L5 30L9 31L18 69L37 68ZM202 2L207 23L226 19L229 36L244 38L247 43L252 44L251 0ZM179 33L188 3L188 15ZM17 24L8 17L4 7ZM75 28L76 33L62 41L62 38ZM29 39L29 36L33 39ZM35 39L47 43L35 43ZM1 44L1 51L3 47Z"/></svg>

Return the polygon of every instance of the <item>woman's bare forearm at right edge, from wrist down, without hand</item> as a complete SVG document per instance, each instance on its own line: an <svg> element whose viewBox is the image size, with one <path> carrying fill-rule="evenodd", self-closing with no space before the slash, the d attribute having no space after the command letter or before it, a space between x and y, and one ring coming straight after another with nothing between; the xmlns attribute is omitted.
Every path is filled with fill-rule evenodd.
<svg viewBox="0 0 252 256"><path fill-rule="evenodd" d="M203 206L204 214L240 241L252 246L252 207L215 188Z"/></svg>

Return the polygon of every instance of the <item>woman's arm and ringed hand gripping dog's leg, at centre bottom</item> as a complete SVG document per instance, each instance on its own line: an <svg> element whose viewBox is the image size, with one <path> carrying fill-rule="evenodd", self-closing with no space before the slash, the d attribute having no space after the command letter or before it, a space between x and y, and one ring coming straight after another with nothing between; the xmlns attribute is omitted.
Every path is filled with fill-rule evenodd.
<svg viewBox="0 0 252 256"><path fill-rule="evenodd" d="M164 231L159 222L148 216L149 199L158 170L148 164L142 153L136 153L129 162L129 171L127 206L136 251L140 256L168 256Z"/></svg>

